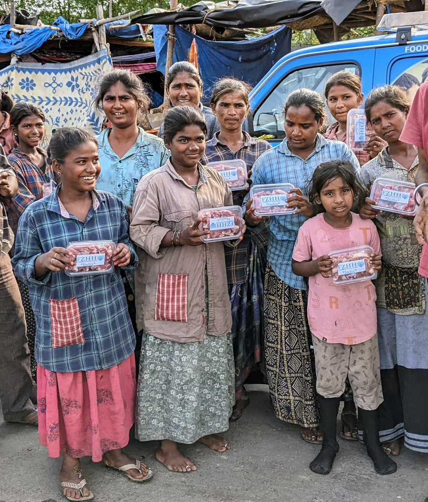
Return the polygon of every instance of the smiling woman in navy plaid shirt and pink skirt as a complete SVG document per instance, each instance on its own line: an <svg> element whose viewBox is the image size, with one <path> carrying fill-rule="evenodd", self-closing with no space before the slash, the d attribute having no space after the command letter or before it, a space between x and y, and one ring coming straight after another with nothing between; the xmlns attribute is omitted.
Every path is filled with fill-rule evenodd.
<svg viewBox="0 0 428 502"><path fill-rule="evenodd" d="M89 500L80 457L103 460L132 481L152 477L121 450L134 421L136 383L119 270L135 267L137 257L125 204L95 191L96 139L65 128L49 148L61 182L21 216L13 265L36 317L40 442L50 457L63 456L63 494Z"/></svg>

